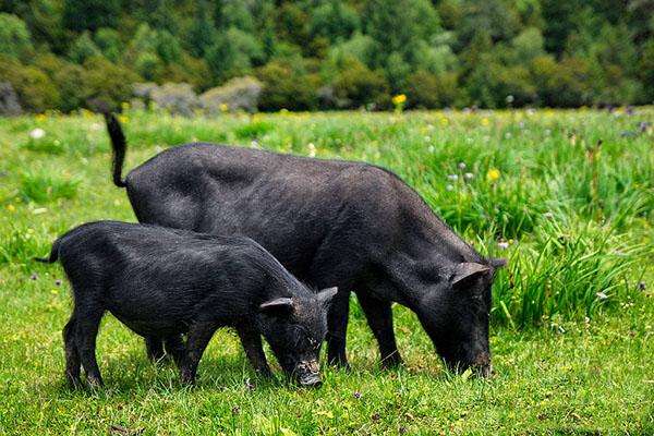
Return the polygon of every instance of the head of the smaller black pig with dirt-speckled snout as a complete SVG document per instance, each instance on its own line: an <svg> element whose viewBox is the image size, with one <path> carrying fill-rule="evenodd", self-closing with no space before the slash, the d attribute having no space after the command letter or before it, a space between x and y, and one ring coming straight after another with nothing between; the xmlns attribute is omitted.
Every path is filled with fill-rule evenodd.
<svg viewBox="0 0 654 436"><path fill-rule="evenodd" d="M337 288L282 296L259 306L259 327L282 370L302 386L320 385L320 346Z"/></svg>

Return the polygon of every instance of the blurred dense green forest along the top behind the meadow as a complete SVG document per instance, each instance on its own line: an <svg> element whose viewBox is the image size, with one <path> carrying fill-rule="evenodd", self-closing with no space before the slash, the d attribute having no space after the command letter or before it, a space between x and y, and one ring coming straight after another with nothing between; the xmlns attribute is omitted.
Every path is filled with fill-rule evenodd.
<svg viewBox="0 0 654 436"><path fill-rule="evenodd" d="M145 82L228 105L254 89L250 110L386 109L402 94L408 108L651 104L652 11L652 0L0 0L0 82L29 111L119 106Z"/></svg>

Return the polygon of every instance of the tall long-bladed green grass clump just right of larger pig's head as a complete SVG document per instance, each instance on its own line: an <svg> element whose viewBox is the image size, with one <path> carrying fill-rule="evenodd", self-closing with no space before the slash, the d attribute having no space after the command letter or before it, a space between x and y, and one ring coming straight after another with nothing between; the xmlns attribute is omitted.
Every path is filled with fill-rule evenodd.
<svg viewBox="0 0 654 436"><path fill-rule="evenodd" d="M517 328L592 318L637 294L652 249L592 222L543 223L518 244L494 289L494 322Z"/></svg>

